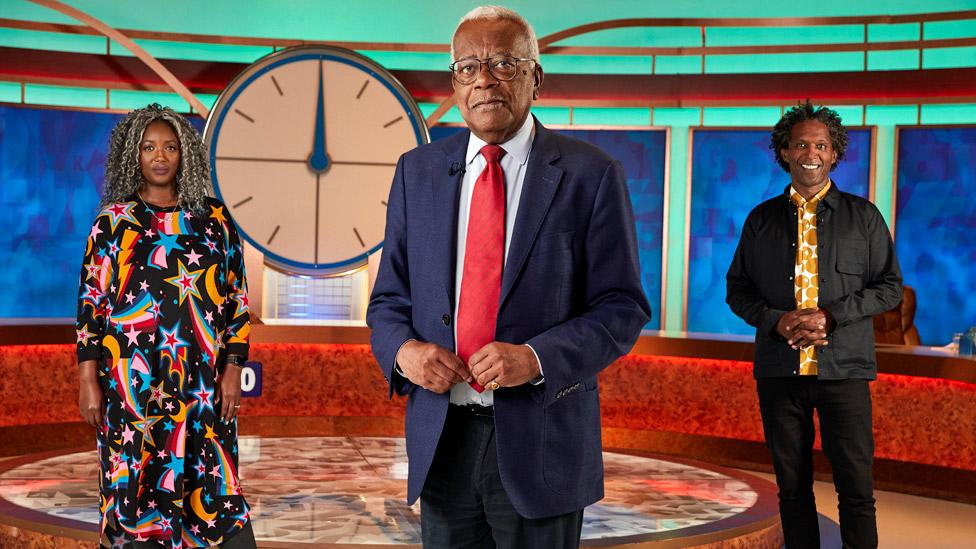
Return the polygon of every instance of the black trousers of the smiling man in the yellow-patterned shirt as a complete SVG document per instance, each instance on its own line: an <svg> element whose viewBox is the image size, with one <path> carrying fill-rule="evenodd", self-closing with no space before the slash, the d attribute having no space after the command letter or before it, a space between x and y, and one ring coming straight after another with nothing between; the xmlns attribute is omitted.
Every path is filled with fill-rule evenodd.
<svg viewBox="0 0 976 549"><path fill-rule="evenodd" d="M758 379L766 446L779 486L779 511L787 549L820 547L813 496L813 412L834 473L845 548L878 546L871 467L871 391L867 380L818 380L814 376Z"/></svg>

